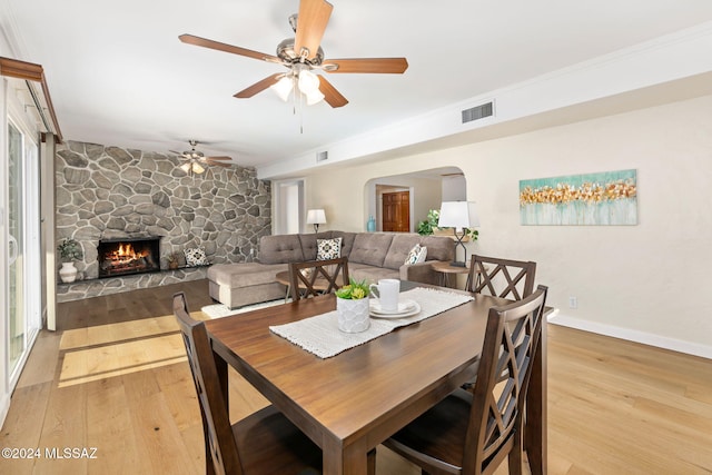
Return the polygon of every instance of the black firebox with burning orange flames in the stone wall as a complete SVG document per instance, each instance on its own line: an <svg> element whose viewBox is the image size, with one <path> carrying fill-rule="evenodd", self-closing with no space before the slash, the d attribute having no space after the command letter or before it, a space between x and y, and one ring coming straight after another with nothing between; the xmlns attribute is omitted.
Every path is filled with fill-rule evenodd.
<svg viewBox="0 0 712 475"><path fill-rule="evenodd" d="M99 278L160 270L160 238L100 240L97 248Z"/></svg>

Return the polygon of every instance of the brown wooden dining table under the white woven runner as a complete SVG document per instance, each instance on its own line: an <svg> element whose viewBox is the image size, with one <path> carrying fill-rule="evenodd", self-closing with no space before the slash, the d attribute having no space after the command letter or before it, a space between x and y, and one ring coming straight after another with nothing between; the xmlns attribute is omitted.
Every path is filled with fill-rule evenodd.
<svg viewBox="0 0 712 475"><path fill-rule="evenodd" d="M474 296L326 359L269 327L334 310L333 294L206 321L225 400L229 365L322 447L325 474L366 474L369 451L475 376L488 310L508 300ZM546 473L546 325L542 328L526 405L533 474Z"/></svg>

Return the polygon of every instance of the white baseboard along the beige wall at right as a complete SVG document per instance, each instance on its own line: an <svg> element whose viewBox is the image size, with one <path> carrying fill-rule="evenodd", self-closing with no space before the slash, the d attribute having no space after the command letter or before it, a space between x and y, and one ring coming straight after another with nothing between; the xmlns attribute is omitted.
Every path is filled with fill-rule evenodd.
<svg viewBox="0 0 712 475"><path fill-rule="evenodd" d="M599 324L595 321L583 320L581 318L570 317L556 311L552 314L548 323L561 325L564 327L576 328L584 331L591 331L599 335L611 336L614 338L626 339L629 342L641 343L643 345L655 346L657 348L671 349L673 352L684 353L686 355L700 356L702 358L712 359L712 347L700 345L698 343L685 342L676 338L654 335L630 328L621 328L613 325Z"/></svg>

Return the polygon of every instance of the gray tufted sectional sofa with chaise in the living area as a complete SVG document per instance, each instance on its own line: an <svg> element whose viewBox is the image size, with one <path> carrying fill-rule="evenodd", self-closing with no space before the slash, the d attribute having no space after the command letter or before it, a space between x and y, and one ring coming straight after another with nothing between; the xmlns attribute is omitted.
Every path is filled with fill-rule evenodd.
<svg viewBox="0 0 712 475"><path fill-rule="evenodd" d="M454 244L449 237L404 232L345 232L265 236L259 241L258 263L215 264L208 268L210 297L230 308L285 296L286 288L276 280L288 263L315 260L317 239L342 238L342 256L348 257L348 273L356 279L383 278L438 284L431 264L452 261ZM427 247L424 263L404 264L411 249Z"/></svg>

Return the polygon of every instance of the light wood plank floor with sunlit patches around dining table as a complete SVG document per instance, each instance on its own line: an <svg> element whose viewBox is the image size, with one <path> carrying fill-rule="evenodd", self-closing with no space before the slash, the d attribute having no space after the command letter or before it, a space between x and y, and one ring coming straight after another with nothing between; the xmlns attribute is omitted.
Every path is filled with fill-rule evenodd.
<svg viewBox="0 0 712 475"><path fill-rule="evenodd" d="M1 474L199 474L202 429L171 315L184 290L196 317L207 281L60 304L12 397ZM551 474L712 473L712 362L550 325ZM230 375L231 417L266 402ZM46 451L87 448L87 459ZM81 454L81 452L80 452ZM378 474L418 474L385 448ZM506 464L497 474L506 473Z"/></svg>

